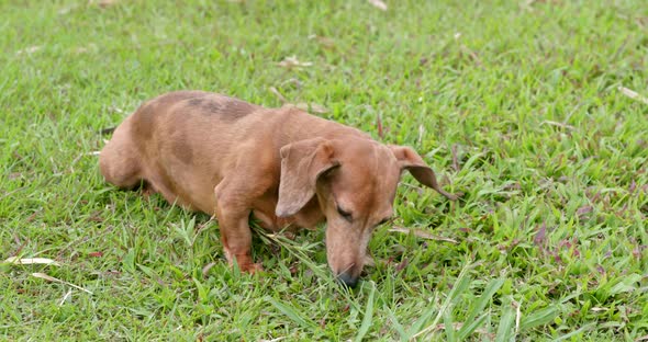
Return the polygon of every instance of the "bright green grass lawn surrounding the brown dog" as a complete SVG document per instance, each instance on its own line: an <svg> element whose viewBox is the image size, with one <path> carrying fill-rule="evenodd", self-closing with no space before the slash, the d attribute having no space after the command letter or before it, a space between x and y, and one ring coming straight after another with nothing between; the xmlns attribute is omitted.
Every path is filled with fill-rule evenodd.
<svg viewBox="0 0 648 342"><path fill-rule="evenodd" d="M60 263L0 263L1 340L648 335L648 104L618 90L648 96L644 1L96 2L0 2L0 262ZM257 233L249 276L208 216L100 176L142 101L272 88L424 153L465 196L407 175L395 224L456 243L383 227L346 292L323 229Z"/></svg>

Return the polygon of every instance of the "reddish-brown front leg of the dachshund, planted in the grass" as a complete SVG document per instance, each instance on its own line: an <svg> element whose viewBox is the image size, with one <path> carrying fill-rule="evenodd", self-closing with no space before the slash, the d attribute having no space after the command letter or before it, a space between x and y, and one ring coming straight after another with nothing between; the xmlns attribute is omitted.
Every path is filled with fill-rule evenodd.
<svg viewBox="0 0 648 342"><path fill-rule="evenodd" d="M249 228L249 206L242 196L245 191L227 180L215 189L216 219L221 229L221 242L230 265L248 273L262 271L260 263L252 259L252 230Z"/></svg>

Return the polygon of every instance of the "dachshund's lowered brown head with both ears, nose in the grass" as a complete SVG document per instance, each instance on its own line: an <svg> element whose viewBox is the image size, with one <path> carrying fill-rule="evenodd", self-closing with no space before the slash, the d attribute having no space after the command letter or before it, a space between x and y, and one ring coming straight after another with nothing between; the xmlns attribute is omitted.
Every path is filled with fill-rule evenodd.
<svg viewBox="0 0 648 342"><path fill-rule="evenodd" d="M434 171L410 147L364 138L313 138L281 148L276 214L294 215L317 196L326 216L326 255L340 282L357 284L373 229L393 215L401 172L456 200L437 184Z"/></svg>

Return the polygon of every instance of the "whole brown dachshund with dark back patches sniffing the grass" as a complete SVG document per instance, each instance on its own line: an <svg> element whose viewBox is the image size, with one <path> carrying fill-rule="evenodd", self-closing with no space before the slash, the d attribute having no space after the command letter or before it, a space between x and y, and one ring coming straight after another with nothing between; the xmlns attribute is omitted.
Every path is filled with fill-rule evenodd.
<svg viewBox="0 0 648 342"><path fill-rule="evenodd" d="M227 261L246 272L261 270L250 254L250 214L272 231L326 220L328 265L351 287L373 228L393 214L403 170L457 198L410 147L294 107L202 91L144 103L114 130L99 166L119 187L144 184L171 204L215 215Z"/></svg>

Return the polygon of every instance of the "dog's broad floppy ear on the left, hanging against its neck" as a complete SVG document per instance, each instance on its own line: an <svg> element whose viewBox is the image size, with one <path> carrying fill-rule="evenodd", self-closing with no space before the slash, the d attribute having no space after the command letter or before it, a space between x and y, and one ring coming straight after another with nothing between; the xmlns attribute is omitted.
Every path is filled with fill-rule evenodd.
<svg viewBox="0 0 648 342"><path fill-rule="evenodd" d="M286 217L299 212L315 195L317 178L338 167L331 141L313 138L283 146L279 201L275 214Z"/></svg>

